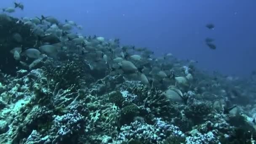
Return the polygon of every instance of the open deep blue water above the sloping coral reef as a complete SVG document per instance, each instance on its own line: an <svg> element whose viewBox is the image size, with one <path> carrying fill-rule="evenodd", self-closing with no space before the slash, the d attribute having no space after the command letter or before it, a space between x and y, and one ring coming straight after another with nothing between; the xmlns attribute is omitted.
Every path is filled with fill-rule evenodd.
<svg viewBox="0 0 256 144"><path fill-rule="evenodd" d="M55 16L73 20L85 35L119 37L123 44L146 46L199 61L206 70L248 77L256 69L256 0L19 0L13 16ZM1 0L0 7L13 6ZM205 28L212 22L214 30ZM216 39L209 49L205 37Z"/></svg>

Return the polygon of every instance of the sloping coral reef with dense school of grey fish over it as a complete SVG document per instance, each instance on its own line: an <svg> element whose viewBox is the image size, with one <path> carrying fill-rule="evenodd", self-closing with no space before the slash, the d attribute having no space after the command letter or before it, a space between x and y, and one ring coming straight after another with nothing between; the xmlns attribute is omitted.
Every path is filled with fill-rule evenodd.
<svg viewBox="0 0 256 144"><path fill-rule="evenodd" d="M119 40L72 37L59 23L42 31L60 27L56 33L64 40L54 43L58 53L32 59L24 51L40 47L49 34L35 35L39 19L38 25L19 21L0 14L0 144L253 144L256 139L255 80L209 75L191 62L155 58L147 48L120 47ZM24 41L14 42L13 33ZM19 61L10 53L16 47Z"/></svg>

